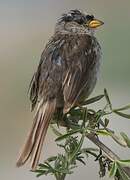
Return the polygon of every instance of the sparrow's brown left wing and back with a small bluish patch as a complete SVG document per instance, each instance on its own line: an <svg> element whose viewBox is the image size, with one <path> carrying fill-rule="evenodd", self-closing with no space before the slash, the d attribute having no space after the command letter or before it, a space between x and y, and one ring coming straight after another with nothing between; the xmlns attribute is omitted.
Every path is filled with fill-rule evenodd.
<svg viewBox="0 0 130 180"><path fill-rule="evenodd" d="M41 55L39 66L29 86L32 110L41 99L46 102L57 98L61 91L64 61L60 51L63 43L62 36L52 37Z"/></svg>

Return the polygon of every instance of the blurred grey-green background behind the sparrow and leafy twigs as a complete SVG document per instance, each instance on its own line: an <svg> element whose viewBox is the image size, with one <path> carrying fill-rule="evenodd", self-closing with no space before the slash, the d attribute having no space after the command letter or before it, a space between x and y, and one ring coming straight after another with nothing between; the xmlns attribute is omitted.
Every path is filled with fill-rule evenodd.
<svg viewBox="0 0 130 180"><path fill-rule="evenodd" d="M93 95L106 87L113 104L130 103L130 1L104 0L0 0L0 179L35 180L27 167L17 169L15 161L33 114L29 111L27 89L39 63L41 52L53 34L57 18L64 12L79 8L105 22L98 29L103 51L100 80ZM111 122L118 131L130 136L130 122L116 116ZM51 131L45 142L43 158L56 153ZM106 142L124 158L114 143ZM128 158L129 159L129 158ZM98 180L97 164L88 160L68 180ZM49 180L52 177L41 177ZM104 179L108 179L107 177Z"/></svg>

